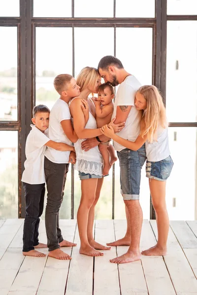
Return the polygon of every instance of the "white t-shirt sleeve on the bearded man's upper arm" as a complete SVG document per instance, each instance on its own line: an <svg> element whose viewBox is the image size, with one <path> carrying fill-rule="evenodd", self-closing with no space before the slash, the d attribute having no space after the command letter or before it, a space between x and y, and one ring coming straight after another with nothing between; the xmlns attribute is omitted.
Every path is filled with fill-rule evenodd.
<svg viewBox="0 0 197 295"><path fill-rule="evenodd" d="M124 87L121 87L118 91L117 106L134 106L136 90L134 90L131 85L125 84Z"/></svg>

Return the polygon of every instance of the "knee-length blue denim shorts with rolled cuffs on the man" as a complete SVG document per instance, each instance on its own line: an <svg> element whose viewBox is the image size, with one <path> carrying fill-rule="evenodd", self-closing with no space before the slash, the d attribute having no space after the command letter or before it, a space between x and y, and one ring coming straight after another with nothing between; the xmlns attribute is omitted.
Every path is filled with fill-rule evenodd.
<svg viewBox="0 0 197 295"><path fill-rule="evenodd" d="M145 144L136 151L124 148L117 154L120 163L120 186L123 200L139 200L141 168L146 161Z"/></svg>

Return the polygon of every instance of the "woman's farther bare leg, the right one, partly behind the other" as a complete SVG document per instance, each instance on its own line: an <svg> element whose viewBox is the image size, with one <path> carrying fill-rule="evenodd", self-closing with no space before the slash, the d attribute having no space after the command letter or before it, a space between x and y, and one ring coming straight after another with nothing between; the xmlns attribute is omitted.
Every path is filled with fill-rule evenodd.
<svg viewBox="0 0 197 295"><path fill-rule="evenodd" d="M94 225L94 219L95 219L95 206L97 205L97 202L99 200L100 191L101 191L101 187L103 184L103 179L104 179L104 177L98 178L97 189L96 189L96 198L95 198L95 201L94 201L92 207L89 210L87 236L88 236L89 244L93 248L99 249L99 250L110 250L110 247L105 247L105 246L97 243L94 239L94 236L93 236L93 225Z"/></svg>

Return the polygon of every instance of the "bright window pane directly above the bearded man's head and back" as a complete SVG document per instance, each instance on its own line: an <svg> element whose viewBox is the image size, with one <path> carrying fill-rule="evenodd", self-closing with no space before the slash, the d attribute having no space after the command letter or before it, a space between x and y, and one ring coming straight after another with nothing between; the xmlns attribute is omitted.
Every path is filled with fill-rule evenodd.
<svg viewBox="0 0 197 295"><path fill-rule="evenodd" d="M142 85L152 84L152 47L152 29L116 29L116 57Z"/></svg>

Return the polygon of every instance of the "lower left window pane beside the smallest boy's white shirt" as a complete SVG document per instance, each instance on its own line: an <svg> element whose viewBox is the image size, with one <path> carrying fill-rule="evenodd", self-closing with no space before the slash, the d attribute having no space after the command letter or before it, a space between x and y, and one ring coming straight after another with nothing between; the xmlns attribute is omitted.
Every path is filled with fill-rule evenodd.
<svg viewBox="0 0 197 295"><path fill-rule="evenodd" d="M18 218L18 131L0 131L0 217Z"/></svg>

